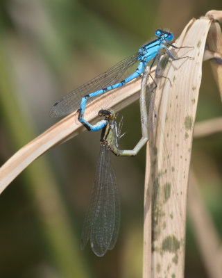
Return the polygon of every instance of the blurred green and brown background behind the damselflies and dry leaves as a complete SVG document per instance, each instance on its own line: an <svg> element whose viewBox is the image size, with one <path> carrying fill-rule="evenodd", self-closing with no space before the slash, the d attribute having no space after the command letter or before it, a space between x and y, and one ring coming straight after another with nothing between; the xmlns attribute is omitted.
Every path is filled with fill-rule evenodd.
<svg viewBox="0 0 222 278"><path fill-rule="evenodd" d="M174 38L192 17L222 10L212 1L3 0L0 2L0 161L56 122L62 95L135 53L157 28ZM210 63L203 66L197 121L220 116ZM124 148L140 137L139 106L121 111ZM133 129L135 131L133 131ZM30 165L1 195L0 277L142 277L145 148L116 158L121 229L114 250L80 251L100 133L81 133ZM191 167L222 234L222 134L194 140ZM188 221L185 277L207 277Z"/></svg>

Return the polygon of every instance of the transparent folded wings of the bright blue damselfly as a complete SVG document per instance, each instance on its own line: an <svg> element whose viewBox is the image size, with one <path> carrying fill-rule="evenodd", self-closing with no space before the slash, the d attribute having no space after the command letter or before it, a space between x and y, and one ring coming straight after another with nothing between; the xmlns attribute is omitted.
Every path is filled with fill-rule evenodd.
<svg viewBox="0 0 222 278"><path fill-rule="evenodd" d="M121 62L111 67L107 72L100 74L91 81L76 88L76 90L69 92L68 95L62 97L62 99L57 101L52 106L49 115L51 117L68 115L69 113L72 113L80 108L81 98L85 95L88 95L91 92L96 92L97 90L106 88L110 85L114 85L115 83L118 83L126 78L124 77L124 74L126 74L129 67L132 67L136 62L138 62L137 56L138 54L135 54L121 60ZM89 99L89 101L90 100L92 99Z"/></svg>

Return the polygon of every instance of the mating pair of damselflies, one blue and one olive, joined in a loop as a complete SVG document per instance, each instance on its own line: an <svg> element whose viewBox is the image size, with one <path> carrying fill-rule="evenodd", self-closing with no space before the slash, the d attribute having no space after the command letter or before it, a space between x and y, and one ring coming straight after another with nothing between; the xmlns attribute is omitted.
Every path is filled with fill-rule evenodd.
<svg viewBox="0 0 222 278"><path fill-rule="evenodd" d="M67 115L78 110L78 120L87 128L87 130L98 131L103 129L102 138L105 132L109 131L108 137L104 137L105 139L103 138L103 140L101 140L103 142L101 147L101 156L96 167L96 175L98 178L94 180L94 186L92 188L92 194L81 237L81 247L84 248L87 241L90 239L92 250L97 256L103 256L107 250L114 247L119 231L119 197L117 198L117 183L113 178L113 170L111 167L110 170L108 170L107 166L109 165L109 149L111 149L114 153L116 152L117 155L135 156L139 149L141 149L148 140L148 115L153 114L153 111L148 112L146 109L146 83L149 71L153 67L155 60L157 61L155 76L161 77L160 74L158 74L158 69L160 66L162 49L167 52L172 60L191 58L189 56L175 58L171 54L171 51L169 51L166 44L175 49L185 48L176 47L169 43L173 40L172 33L158 29L155 32L155 36L156 39L141 47L139 51L137 51L137 54L122 60L114 67L111 67L107 72L104 72L91 81L85 83L76 90L70 92L65 97L62 97L60 101L53 105L50 111L50 115L52 117L57 117ZM148 67L149 61L151 62L150 67ZM126 71L132 68L135 63L138 63L137 69L132 74L124 78ZM140 95L143 136L136 145L135 149L120 151L118 149L120 131L117 128L112 112L110 111L108 113L103 111L101 115L106 118L97 124L92 125L84 119L85 106L89 103L89 101L95 99L99 95L107 93L110 90L120 88L133 79L137 79L139 76L143 76ZM148 91L149 93L152 93L151 89ZM109 107L105 107L105 109L107 108ZM108 159L104 159L104 157L108 157ZM105 174L102 174L101 171L103 170ZM103 180L101 181L101 179ZM110 184L112 184L112 188L110 188ZM110 197L110 199L107 199L108 197Z"/></svg>

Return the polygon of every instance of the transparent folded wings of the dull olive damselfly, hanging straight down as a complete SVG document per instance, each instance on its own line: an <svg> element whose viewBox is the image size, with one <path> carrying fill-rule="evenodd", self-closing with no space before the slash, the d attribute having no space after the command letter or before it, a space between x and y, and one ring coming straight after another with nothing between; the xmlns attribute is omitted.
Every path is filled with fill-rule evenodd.
<svg viewBox="0 0 222 278"><path fill-rule="evenodd" d="M110 165L110 150L101 146L99 161L85 215L81 250L90 238L96 256L103 256L117 241L120 223L120 202L117 181Z"/></svg>

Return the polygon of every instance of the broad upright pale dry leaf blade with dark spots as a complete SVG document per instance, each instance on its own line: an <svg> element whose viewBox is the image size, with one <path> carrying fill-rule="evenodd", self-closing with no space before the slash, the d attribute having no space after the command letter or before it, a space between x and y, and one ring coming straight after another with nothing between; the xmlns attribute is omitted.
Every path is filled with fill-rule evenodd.
<svg viewBox="0 0 222 278"><path fill-rule="evenodd" d="M176 46L193 46L194 49L180 49L176 54L180 57L191 56L194 60L187 58L168 63L162 75L169 77L172 86L164 79L157 84L158 123L155 136L150 136L151 151L157 153L153 158L151 154L153 166L149 184L155 184L153 190L156 196L152 212L152 220L155 220L152 222L152 275L146 271L143 277L184 275L189 165L203 56L211 24L212 19L206 17L192 19L187 24ZM209 53L205 54L205 60L221 58L219 53L210 53L219 52L218 49L207 50ZM145 220L146 215L144 223ZM150 225L144 227L144 234L148 234L146 229L150 229Z"/></svg>

